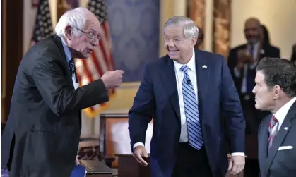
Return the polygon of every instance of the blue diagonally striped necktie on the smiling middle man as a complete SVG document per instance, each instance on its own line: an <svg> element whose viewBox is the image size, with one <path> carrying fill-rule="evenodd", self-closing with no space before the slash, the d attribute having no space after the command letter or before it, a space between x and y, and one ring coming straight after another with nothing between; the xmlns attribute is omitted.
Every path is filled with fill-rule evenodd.
<svg viewBox="0 0 296 177"><path fill-rule="evenodd" d="M201 122L199 120L199 104L196 101L194 87L188 75L189 67L184 65L181 71L184 72L182 82L182 92L185 116L187 121L189 145L195 149L201 149L203 146L203 135L201 133Z"/></svg>

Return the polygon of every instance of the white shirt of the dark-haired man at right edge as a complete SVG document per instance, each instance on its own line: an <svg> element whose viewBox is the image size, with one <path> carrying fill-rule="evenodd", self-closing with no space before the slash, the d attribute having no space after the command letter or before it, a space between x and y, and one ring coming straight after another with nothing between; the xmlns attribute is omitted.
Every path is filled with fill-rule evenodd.
<svg viewBox="0 0 296 177"><path fill-rule="evenodd" d="M278 109L278 111L276 111L276 114L273 114L274 116L276 116L276 120L278 121L276 122L276 125L273 126L273 129L271 130L271 134L276 130L276 128L280 130L280 126L282 126L285 116L287 116L289 109L291 108L292 104L294 104L295 101L296 101L296 97L292 98L289 102L284 104L284 106Z"/></svg>

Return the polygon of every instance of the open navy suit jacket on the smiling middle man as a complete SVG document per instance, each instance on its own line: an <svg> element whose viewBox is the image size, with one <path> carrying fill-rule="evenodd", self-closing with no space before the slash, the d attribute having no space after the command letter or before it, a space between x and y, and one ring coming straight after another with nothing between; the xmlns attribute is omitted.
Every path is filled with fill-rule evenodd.
<svg viewBox="0 0 296 177"><path fill-rule="evenodd" d="M214 177L227 172L227 142L231 152L244 152L244 117L239 97L223 56L195 51L199 115L208 161ZM203 68L206 65L208 68ZM226 130L223 126L225 117ZM169 177L176 162L181 133L174 63L169 56L148 63L129 111L131 146L145 142L153 121L151 176ZM132 149L133 150L133 149Z"/></svg>

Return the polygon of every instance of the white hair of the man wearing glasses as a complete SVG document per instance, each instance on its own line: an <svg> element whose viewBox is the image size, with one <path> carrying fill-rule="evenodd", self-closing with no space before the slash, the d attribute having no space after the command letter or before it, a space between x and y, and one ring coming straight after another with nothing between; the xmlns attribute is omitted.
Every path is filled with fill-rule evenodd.
<svg viewBox="0 0 296 177"><path fill-rule="evenodd" d="M86 17L90 11L87 8L78 7L64 13L56 25L55 32L59 37L65 37L65 28L71 26L74 36L81 35L81 31L86 26L88 18ZM78 28L79 30L77 30Z"/></svg>

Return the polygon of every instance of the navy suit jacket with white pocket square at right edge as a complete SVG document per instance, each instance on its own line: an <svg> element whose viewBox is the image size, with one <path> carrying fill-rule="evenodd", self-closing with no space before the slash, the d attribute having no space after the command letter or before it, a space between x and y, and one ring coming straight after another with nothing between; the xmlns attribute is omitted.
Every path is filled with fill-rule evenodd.
<svg viewBox="0 0 296 177"><path fill-rule="evenodd" d="M296 176L296 102L292 104L278 135L268 152L268 126L271 115L266 116L259 127L258 154L261 177ZM292 146L292 149L278 150L281 146Z"/></svg>

